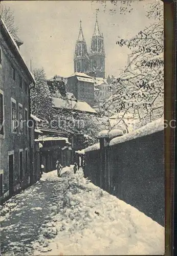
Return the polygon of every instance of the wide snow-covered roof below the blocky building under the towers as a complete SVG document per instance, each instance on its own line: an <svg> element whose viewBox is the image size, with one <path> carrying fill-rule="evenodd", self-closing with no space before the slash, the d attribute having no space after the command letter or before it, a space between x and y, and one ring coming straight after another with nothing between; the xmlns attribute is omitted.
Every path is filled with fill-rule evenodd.
<svg viewBox="0 0 177 256"><path fill-rule="evenodd" d="M52 98L54 108L58 109L73 109L77 111L97 113L87 102L81 100L64 100L62 98Z"/></svg>

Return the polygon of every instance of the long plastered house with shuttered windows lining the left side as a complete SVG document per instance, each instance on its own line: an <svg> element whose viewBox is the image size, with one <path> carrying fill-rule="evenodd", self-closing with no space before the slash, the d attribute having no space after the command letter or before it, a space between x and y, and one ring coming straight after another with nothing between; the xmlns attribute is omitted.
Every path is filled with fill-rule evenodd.
<svg viewBox="0 0 177 256"><path fill-rule="evenodd" d="M34 84L19 43L0 19L1 200L30 183L30 84Z"/></svg>

